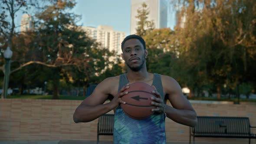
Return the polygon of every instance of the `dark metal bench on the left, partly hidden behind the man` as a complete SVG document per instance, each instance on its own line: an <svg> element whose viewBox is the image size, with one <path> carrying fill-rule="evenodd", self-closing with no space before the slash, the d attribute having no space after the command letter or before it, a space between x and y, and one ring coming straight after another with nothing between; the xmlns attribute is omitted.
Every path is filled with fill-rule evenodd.
<svg viewBox="0 0 256 144"><path fill-rule="evenodd" d="M97 144L99 135L113 135L114 114L105 114L98 118Z"/></svg>

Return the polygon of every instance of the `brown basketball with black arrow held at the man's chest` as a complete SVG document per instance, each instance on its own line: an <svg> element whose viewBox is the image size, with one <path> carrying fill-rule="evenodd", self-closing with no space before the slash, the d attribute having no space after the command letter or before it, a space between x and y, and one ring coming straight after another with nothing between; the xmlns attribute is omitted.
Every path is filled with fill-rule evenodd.
<svg viewBox="0 0 256 144"><path fill-rule="evenodd" d="M135 82L129 85L130 87L124 92L128 92L121 100L125 104L121 104L121 108L130 118L144 119L154 113L151 111L156 106L151 105L151 97L155 96L152 91L154 88L143 82Z"/></svg>

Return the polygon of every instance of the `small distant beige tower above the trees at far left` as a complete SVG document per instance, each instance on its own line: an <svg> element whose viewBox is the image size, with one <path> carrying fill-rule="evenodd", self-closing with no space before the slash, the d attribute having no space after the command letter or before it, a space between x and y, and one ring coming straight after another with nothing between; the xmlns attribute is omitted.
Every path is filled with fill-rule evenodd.
<svg viewBox="0 0 256 144"><path fill-rule="evenodd" d="M26 32L33 29L33 17L29 14L23 14L21 18L20 32Z"/></svg>

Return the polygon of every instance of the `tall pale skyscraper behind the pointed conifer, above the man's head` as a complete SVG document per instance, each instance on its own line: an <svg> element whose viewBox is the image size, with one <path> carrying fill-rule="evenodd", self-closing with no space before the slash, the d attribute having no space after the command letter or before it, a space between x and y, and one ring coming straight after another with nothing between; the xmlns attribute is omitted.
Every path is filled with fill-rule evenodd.
<svg viewBox="0 0 256 144"><path fill-rule="evenodd" d="M131 0L131 30L130 34L136 33L138 19L137 10L142 3L148 6L148 20L153 20L156 29L167 27L167 1L166 0Z"/></svg>

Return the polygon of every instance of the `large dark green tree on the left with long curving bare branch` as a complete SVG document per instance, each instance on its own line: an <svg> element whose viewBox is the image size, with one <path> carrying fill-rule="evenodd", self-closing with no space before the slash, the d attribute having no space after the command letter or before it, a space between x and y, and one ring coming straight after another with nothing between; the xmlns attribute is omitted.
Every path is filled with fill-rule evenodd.
<svg viewBox="0 0 256 144"><path fill-rule="evenodd" d="M26 5L27 1L10 2L24 2ZM44 5L34 17L33 30L13 35L15 40L12 42L11 73L15 73L11 79L19 81L21 92L28 84L38 82L41 85L50 81L53 85L53 98L58 98L59 86L65 82L65 85L72 83L67 80L72 72L77 72L73 77L79 75L83 81L89 79L95 72L105 69L110 63L108 57L113 53L90 39L81 27L75 24L80 16L69 13L75 6L74 0L47 2L48 5ZM5 38L0 36L0 41L4 40ZM24 79L20 79L21 75Z"/></svg>

